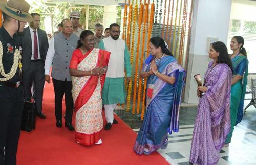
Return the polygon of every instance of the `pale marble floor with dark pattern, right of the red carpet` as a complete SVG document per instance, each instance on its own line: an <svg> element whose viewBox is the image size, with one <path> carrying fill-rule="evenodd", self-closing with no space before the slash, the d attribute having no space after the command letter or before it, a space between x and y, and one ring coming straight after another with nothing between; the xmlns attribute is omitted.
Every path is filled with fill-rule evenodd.
<svg viewBox="0 0 256 165"><path fill-rule="evenodd" d="M250 100L245 100L245 106ZM115 113L129 125L135 132L139 131L140 115L133 115L125 110L115 110ZM194 121L197 115L197 107L184 105L180 111L180 130L169 136L168 147L158 152L170 163L186 165L189 163L191 138L194 129ZM220 153L221 164L256 164L256 108L250 106L233 132L231 143L223 147Z"/></svg>

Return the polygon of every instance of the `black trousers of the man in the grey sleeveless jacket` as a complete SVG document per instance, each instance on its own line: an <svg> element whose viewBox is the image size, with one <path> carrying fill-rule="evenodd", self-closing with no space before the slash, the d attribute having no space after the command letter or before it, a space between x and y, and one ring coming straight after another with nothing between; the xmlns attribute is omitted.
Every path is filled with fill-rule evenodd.
<svg viewBox="0 0 256 165"><path fill-rule="evenodd" d="M72 81L60 81L52 79L54 93L55 93L55 117L56 120L62 119L62 99L65 94L65 106L66 106L66 115L65 122L72 123L72 114L73 114L73 98L72 98Z"/></svg>

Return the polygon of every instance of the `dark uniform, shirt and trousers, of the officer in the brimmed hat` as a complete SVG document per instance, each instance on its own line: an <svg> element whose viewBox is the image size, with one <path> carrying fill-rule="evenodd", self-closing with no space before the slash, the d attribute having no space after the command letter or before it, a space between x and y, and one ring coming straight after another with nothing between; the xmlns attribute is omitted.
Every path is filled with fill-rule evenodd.
<svg viewBox="0 0 256 165"><path fill-rule="evenodd" d="M0 41L3 47L2 64L5 73L9 73L13 65L14 52L19 49L20 41L13 38L4 27L0 28ZM0 78L4 78L0 75ZM18 138L24 105L23 87L20 84L19 67L15 75L7 81L0 80L0 164L16 162Z"/></svg>

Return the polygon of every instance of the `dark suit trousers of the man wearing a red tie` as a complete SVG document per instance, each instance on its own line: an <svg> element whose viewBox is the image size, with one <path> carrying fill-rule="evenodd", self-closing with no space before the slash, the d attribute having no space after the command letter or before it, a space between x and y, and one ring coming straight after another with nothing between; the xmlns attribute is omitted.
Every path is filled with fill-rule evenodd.
<svg viewBox="0 0 256 165"><path fill-rule="evenodd" d="M23 72L24 98L31 101L31 87L34 82L34 99L37 106L37 113L42 111L42 95L45 85L44 64L40 60L31 60L29 68Z"/></svg>

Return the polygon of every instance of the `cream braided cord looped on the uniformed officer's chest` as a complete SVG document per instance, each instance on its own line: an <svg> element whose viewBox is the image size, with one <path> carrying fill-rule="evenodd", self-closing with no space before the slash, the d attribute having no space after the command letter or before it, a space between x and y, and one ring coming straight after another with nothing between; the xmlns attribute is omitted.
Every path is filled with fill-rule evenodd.
<svg viewBox="0 0 256 165"><path fill-rule="evenodd" d="M16 74L17 68L22 68L21 63L22 56L20 55L20 50L15 49L14 57L13 57L13 65L11 68L10 73L5 73L4 66L3 66L3 45L0 41L0 74L5 78L0 78L0 81L7 81L14 77Z"/></svg>

